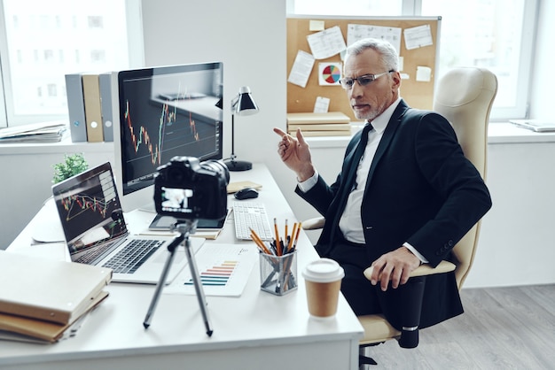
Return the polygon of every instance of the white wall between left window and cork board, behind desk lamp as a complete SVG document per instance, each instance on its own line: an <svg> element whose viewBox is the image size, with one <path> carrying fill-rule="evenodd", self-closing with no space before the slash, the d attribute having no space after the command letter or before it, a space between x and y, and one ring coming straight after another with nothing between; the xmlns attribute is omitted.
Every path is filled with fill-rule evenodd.
<svg viewBox="0 0 555 370"><path fill-rule="evenodd" d="M251 88L260 112L236 117L235 152L276 173L271 129L285 127L285 2L144 0L143 25L147 66L223 62L224 157L231 154L231 98Z"/></svg>

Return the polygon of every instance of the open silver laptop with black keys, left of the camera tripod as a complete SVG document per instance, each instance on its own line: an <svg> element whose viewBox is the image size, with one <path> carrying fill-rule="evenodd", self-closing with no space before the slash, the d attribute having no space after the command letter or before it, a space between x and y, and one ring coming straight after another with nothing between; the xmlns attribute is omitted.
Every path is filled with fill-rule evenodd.
<svg viewBox="0 0 555 370"><path fill-rule="evenodd" d="M158 283L174 238L130 235L109 162L54 184L52 193L73 262L110 267L112 281ZM204 243L189 240L193 252ZM176 250L166 283L187 265L183 249Z"/></svg>

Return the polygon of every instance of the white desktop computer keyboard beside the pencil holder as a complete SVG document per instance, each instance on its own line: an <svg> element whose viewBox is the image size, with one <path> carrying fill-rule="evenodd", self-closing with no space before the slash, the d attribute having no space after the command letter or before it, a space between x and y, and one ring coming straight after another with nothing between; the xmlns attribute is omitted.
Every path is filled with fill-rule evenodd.
<svg viewBox="0 0 555 370"><path fill-rule="evenodd" d="M272 240L273 234L266 207L260 202L233 202L235 236L239 240L250 240L252 228L262 240Z"/></svg>

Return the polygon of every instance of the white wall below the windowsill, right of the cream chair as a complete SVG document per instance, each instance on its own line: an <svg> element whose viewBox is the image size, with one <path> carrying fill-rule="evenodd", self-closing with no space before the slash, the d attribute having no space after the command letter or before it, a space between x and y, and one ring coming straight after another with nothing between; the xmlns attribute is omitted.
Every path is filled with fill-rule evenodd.
<svg viewBox="0 0 555 370"><path fill-rule="evenodd" d="M492 124L493 125L493 124ZM555 143L489 143L493 206L465 287L555 283Z"/></svg>

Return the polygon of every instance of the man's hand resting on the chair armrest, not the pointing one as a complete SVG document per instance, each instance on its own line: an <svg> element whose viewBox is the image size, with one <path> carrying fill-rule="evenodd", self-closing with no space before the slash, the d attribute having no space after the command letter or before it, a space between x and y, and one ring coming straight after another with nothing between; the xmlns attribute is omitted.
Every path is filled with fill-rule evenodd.
<svg viewBox="0 0 555 370"><path fill-rule="evenodd" d="M420 259L406 247L390 251L372 262L374 267L371 274L371 284L379 285L383 291L391 281L391 287L396 289L399 284L409 280L409 274L420 266Z"/></svg>

